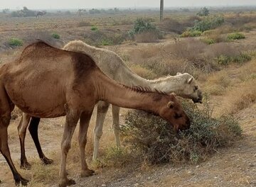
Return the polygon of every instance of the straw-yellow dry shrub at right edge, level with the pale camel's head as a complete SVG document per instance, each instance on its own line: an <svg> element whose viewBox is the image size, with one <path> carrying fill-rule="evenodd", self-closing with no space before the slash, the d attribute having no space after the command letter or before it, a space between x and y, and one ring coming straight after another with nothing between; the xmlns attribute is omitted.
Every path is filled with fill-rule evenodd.
<svg viewBox="0 0 256 187"><path fill-rule="evenodd" d="M249 81L242 82L237 87L230 89L225 96L225 112L237 113L247 108L256 101L256 79L251 77Z"/></svg>

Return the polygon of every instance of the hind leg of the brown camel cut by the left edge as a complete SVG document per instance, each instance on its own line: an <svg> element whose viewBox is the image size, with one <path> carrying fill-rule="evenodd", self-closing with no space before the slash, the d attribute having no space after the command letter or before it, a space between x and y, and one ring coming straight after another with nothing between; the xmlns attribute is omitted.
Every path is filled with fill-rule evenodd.
<svg viewBox="0 0 256 187"><path fill-rule="evenodd" d="M23 179L21 174L18 174L14 163L11 160L11 154L8 146L8 133L7 128L11 120L11 111L14 106L9 102L6 91L3 87L0 88L0 152L3 154L6 162L9 164L11 172L14 176L16 185L21 183L27 185L28 180Z"/></svg>

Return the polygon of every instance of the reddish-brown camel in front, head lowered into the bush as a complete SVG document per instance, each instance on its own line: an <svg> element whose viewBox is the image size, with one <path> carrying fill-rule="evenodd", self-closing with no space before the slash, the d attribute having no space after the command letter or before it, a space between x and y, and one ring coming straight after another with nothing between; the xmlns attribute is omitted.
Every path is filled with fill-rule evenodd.
<svg viewBox="0 0 256 187"><path fill-rule="evenodd" d="M81 176L93 173L85 162L85 145L87 128L97 101L154 113L171 123L174 130L190 126L188 116L173 94L118 84L82 52L60 50L42 41L35 42L23 50L18 60L0 67L0 151L16 184L26 185L28 180L18 173L9 152L7 128L14 106L37 118L66 115L59 186L68 186L75 183L67 178L66 159L78 120Z"/></svg>

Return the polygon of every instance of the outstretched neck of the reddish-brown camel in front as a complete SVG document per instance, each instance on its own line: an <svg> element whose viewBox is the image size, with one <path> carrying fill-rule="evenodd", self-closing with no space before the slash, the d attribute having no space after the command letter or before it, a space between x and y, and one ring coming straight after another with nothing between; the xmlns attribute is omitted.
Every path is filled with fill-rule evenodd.
<svg viewBox="0 0 256 187"><path fill-rule="evenodd" d="M159 100L164 96L158 93L137 91L96 71L95 90L98 101L107 101L122 108L134 108L151 113L159 113Z"/></svg>

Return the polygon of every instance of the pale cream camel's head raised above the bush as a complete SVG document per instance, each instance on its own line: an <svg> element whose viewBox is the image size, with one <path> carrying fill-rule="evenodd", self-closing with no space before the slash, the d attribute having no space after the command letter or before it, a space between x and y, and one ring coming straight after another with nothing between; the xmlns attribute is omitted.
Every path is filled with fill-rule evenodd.
<svg viewBox="0 0 256 187"><path fill-rule="evenodd" d="M183 85L179 95L183 98L191 98L194 103L202 103L203 94L195 78L193 78L192 75L187 73L177 73L176 76L183 77Z"/></svg>

